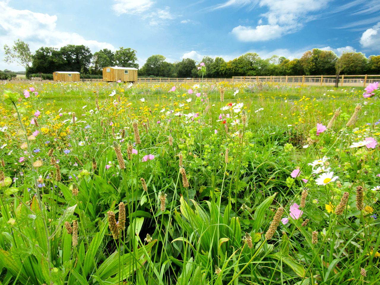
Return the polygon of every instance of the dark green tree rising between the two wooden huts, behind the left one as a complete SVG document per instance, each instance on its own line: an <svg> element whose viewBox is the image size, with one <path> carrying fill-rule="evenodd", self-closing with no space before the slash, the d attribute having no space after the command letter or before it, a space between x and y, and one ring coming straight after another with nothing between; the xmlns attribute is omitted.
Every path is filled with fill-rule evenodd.
<svg viewBox="0 0 380 285"><path fill-rule="evenodd" d="M65 59L65 65L62 67L63 71L88 73L92 58L89 47L68 44L67 46L61 47L60 52Z"/></svg>

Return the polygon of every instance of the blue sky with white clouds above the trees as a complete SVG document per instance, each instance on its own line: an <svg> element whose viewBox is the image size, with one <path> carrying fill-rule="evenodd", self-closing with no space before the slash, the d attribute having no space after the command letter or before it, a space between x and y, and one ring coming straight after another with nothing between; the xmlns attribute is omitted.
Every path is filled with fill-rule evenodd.
<svg viewBox="0 0 380 285"><path fill-rule="evenodd" d="M292 59L313 47L380 54L378 0L0 0L0 11L0 70L22 70L3 62L3 45L17 38L32 50L131 47L140 65L152 54L169 62L246 52Z"/></svg>

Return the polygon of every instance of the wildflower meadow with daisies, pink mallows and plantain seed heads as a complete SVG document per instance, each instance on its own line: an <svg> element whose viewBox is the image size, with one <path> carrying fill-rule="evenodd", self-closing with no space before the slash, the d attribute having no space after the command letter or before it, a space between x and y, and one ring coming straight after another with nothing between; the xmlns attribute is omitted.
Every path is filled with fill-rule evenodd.
<svg viewBox="0 0 380 285"><path fill-rule="evenodd" d="M0 284L380 283L377 82L0 92Z"/></svg>

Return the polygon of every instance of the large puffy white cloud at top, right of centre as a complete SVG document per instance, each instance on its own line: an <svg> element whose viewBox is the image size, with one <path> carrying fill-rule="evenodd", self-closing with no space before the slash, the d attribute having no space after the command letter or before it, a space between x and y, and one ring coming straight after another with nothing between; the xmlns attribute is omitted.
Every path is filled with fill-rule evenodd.
<svg viewBox="0 0 380 285"><path fill-rule="evenodd" d="M256 27L237 26L232 34L240 41L268 41L280 38L282 35L294 33L306 22L314 19L311 12L319 11L327 6L329 0L260 0L260 7L268 8L268 12L260 16L266 18L267 24L260 19ZM217 8L239 5L256 5L257 1L230 0Z"/></svg>

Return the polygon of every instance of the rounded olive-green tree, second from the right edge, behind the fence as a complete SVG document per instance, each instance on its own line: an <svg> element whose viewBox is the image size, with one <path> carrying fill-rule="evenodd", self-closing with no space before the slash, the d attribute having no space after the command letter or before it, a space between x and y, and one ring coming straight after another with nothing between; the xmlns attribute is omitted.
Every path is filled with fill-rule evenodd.
<svg viewBox="0 0 380 285"><path fill-rule="evenodd" d="M361 52L343 52L336 62L336 71L342 74L363 74L367 68L367 61Z"/></svg>

